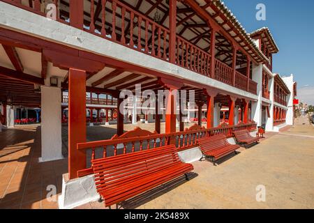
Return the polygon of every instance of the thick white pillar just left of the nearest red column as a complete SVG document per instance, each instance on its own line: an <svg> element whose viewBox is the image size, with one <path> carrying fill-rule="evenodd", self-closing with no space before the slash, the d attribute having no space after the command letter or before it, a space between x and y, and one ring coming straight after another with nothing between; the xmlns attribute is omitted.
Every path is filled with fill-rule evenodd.
<svg viewBox="0 0 314 223"><path fill-rule="evenodd" d="M41 86L40 162L62 158L61 89Z"/></svg>

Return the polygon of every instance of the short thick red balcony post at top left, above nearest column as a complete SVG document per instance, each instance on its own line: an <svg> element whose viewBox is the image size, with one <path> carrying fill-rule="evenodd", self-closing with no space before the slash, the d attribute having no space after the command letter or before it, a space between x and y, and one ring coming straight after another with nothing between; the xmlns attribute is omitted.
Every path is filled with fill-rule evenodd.
<svg viewBox="0 0 314 223"><path fill-rule="evenodd" d="M83 0L70 0L70 25L74 26L77 29L83 29Z"/></svg>

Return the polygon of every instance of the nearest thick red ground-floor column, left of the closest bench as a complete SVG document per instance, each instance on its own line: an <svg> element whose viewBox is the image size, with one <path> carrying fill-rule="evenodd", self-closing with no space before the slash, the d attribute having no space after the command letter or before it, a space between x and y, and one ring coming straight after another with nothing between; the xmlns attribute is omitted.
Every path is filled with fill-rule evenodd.
<svg viewBox="0 0 314 223"><path fill-rule="evenodd" d="M86 169L86 153L77 150L77 143L86 141L86 72L70 69L68 75L68 174L77 178L77 171Z"/></svg>

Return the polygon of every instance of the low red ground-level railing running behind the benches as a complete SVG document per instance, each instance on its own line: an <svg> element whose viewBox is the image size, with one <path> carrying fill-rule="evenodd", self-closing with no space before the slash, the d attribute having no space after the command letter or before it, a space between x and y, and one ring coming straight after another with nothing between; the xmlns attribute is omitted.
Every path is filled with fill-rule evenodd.
<svg viewBox="0 0 314 223"><path fill-rule="evenodd" d="M198 146L197 139L212 136L215 134L225 134L226 137L232 137L236 130L249 130L250 132L257 129L256 123L241 124L236 126L227 126L224 128L199 128L198 130L186 130L184 132L174 132L167 134L157 134L136 128L133 131L126 132L121 137L117 135L112 139L102 141L90 141L77 144L77 149L87 153L88 160L96 158L116 156L119 154L134 153L145 149L154 149L160 146L170 144L170 139L174 139L178 151ZM133 132L137 132L134 134ZM130 137L128 137L130 135ZM139 137L133 137L137 135ZM87 169L79 171L78 176L86 176L92 173L91 162L87 164Z"/></svg>

